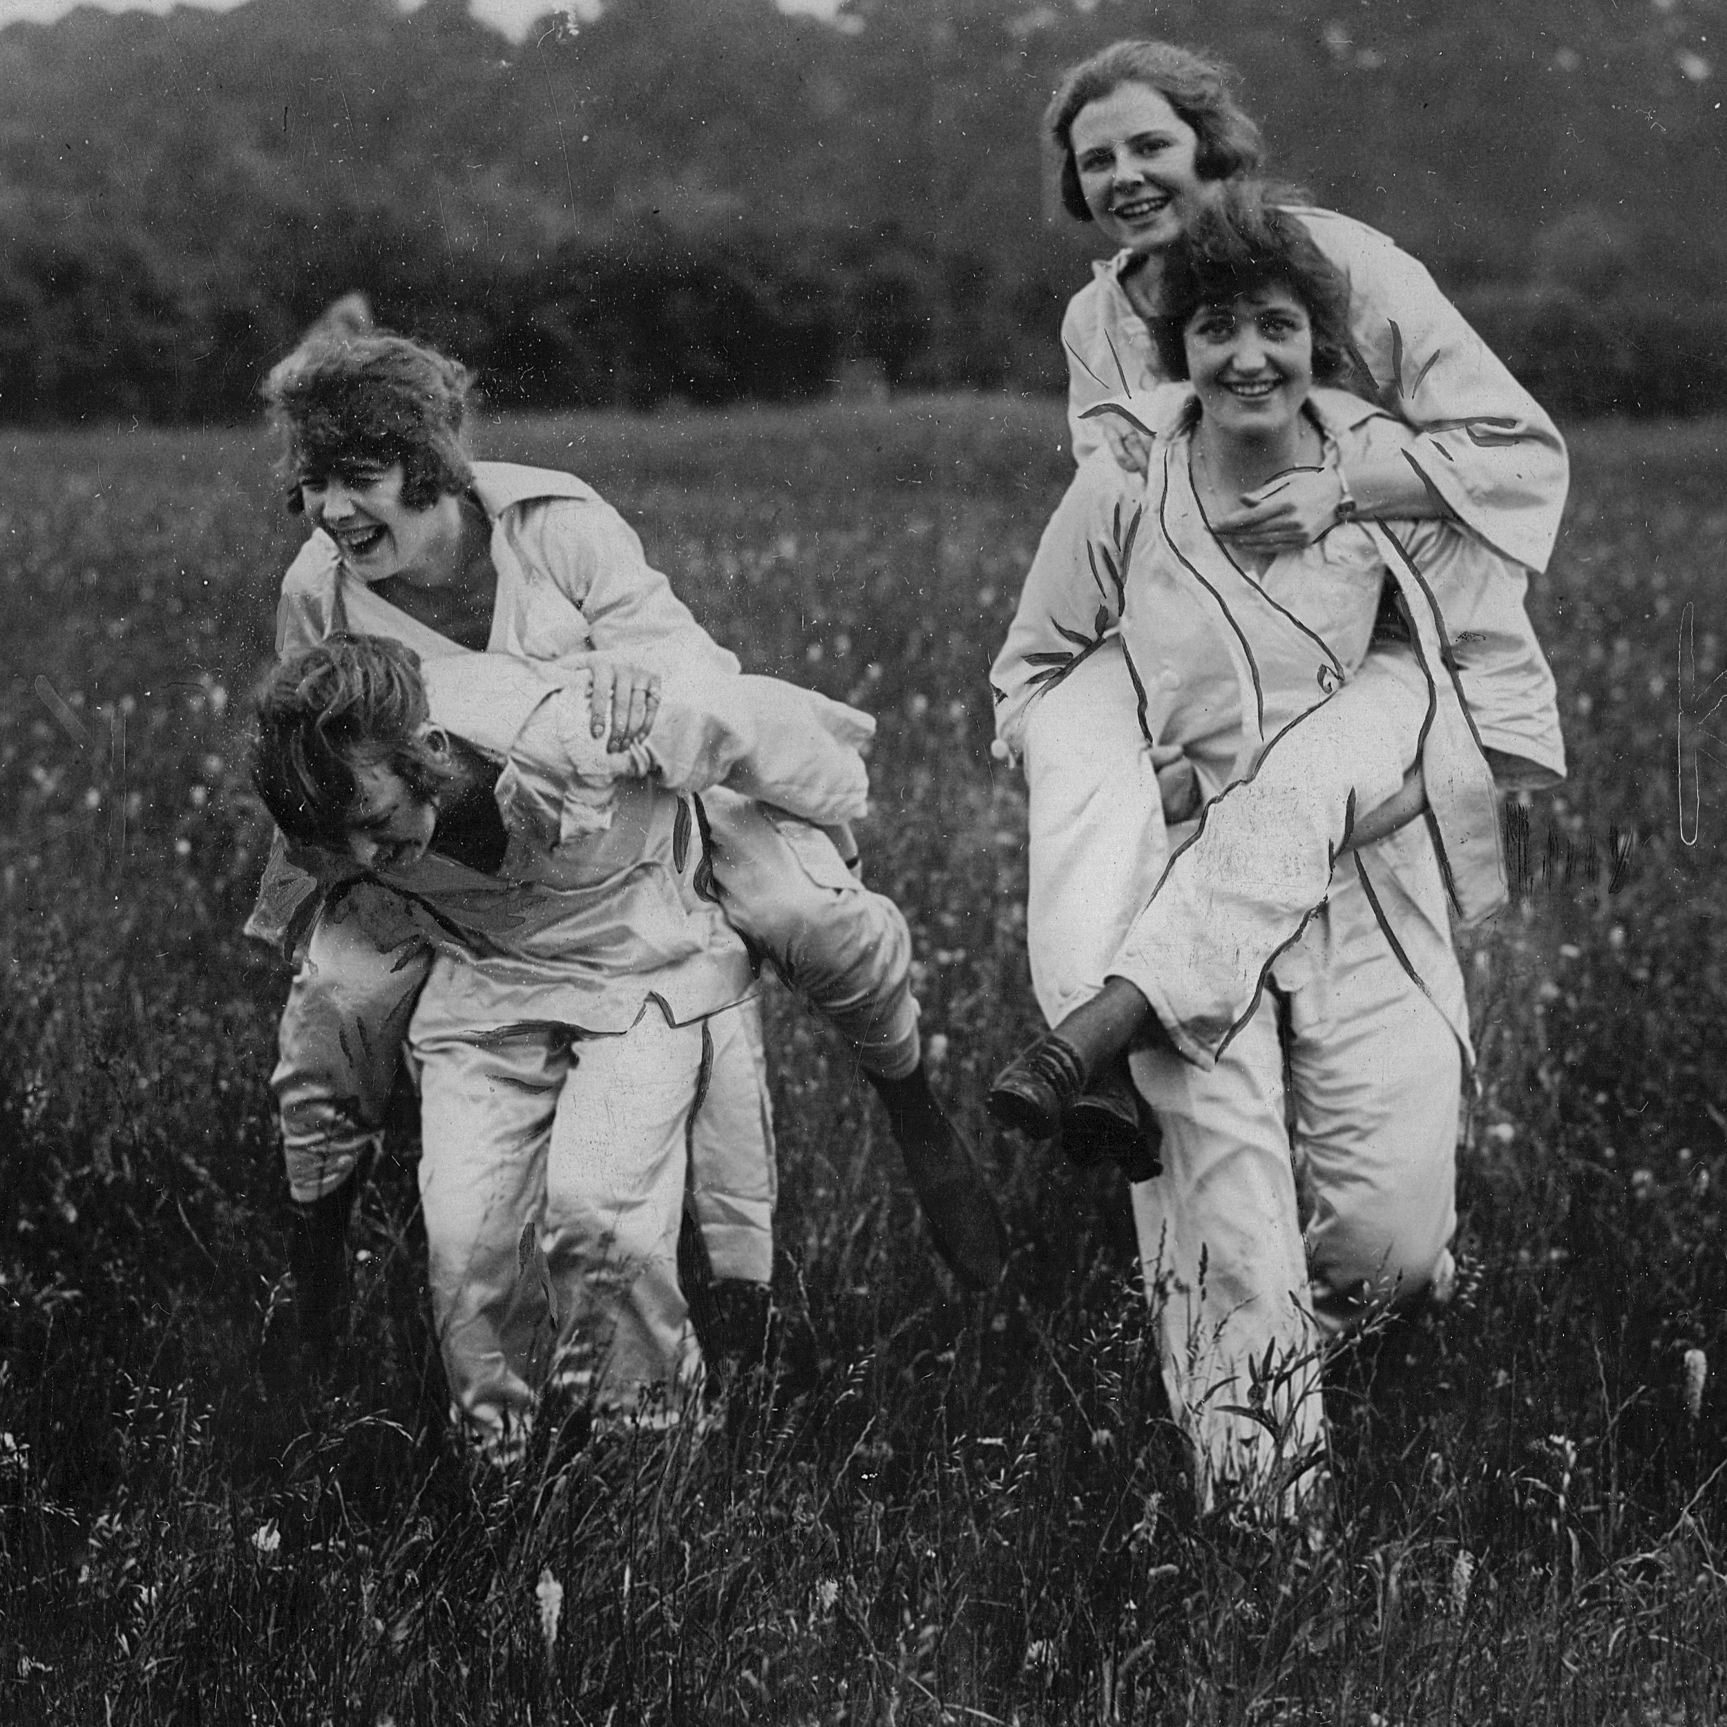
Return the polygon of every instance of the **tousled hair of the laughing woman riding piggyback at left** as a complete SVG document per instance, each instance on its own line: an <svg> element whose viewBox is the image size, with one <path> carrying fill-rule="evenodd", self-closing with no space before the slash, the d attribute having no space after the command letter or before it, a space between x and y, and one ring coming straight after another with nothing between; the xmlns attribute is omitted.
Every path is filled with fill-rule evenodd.
<svg viewBox="0 0 1727 1727"><path fill-rule="evenodd" d="M361 484L402 465L402 503L427 509L473 484L461 442L468 368L433 347L325 316L264 380L282 435L288 509L300 485L337 475Z"/></svg>

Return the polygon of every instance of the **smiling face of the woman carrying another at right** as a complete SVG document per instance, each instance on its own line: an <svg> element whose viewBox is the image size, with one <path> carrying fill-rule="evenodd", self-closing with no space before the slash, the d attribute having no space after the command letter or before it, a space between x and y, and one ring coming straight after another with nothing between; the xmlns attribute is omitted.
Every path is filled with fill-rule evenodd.
<svg viewBox="0 0 1727 1727"><path fill-rule="evenodd" d="M1230 306L1202 306L1181 342L1200 408L1221 432L1285 432L1313 389L1313 321L1281 283Z"/></svg>

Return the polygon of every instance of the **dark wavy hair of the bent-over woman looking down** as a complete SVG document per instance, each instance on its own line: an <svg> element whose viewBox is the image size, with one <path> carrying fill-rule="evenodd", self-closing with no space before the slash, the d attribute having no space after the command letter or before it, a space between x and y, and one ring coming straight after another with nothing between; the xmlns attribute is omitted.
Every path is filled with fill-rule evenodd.
<svg viewBox="0 0 1727 1727"><path fill-rule="evenodd" d="M254 710L252 784L297 845L342 850L359 765L389 767L421 798L454 774L420 737L420 656L385 636L332 636L285 660Z"/></svg>

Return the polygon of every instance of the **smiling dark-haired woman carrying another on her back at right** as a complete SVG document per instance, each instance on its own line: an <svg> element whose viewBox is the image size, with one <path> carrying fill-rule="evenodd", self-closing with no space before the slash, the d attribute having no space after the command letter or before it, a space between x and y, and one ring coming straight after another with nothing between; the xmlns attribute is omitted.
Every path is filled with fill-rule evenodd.
<svg viewBox="0 0 1727 1727"><path fill-rule="evenodd" d="M1066 822L1064 870L1081 891L1055 893L1071 907L1062 927L1088 920L1117 950L1098 965L1102 993L1003 1074L991 1107L1047 1128L1091 1069L1157 1036L1135 1079L1169 1169L1133 1202L1164 1297L1171 1402L1209 1497L1224 1478L1287 1485L1276 1470L1318 1445L1300 1366L1316 1330L1449 1278L1468 1024L1447 900L1483 912L1497 898L1487 758L1539 781L1563 772L1563 751L1527 579L1477 535L1408 520L1344 523L1278 553L1223 539L1243 492L1290 473L1335 485L1418 437L1314 387L1349 373L1349 295L1300 218L1231 183L1169 249L1161 292L1159 363L1192 390L1140 397L1143 487L1107 459L1081 466L993 679L1000 734L1028 756L1034 838L1097 767L1071 739L1050 750L1043 710L1110 655L1142 756L1154 741L1180 756L1204 808L1167 869L1143 769L1104 800L1136 824L1126 867L1121 850L1093 867L1072 839L1085 822ZM1433 822L1406 826L1423 803ZM1126 931L1100 886L1119 895L1133 870L1155 891ZM1048 907L1034 901L1031 922L1048 943ZM1268 986L1287 1003L1316 1200L1306 1243ZM1040 998L1060 1017L1047 974ZM1281 1387L1254 1399L1254 1371L1280 1361ZM1240 1414L1254 1402L1281 1406L1281 1454Z"/></svg>

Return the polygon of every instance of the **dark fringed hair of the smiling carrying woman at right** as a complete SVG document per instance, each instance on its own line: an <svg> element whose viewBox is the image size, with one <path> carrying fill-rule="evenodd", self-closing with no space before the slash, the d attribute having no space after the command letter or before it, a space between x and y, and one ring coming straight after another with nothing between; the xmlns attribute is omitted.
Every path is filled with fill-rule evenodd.
<svg viewBox="0 0 1727 1727"><path fill-rule="evenodd" d="M1185 332L1202 306L1233 306L1243 294L1281 287L1307 309L1314 382L1357 382L1349 282L1314 245L1300 218L1273 204L1268 192L1257 180L1223 187L1164 254L1164 309L1152 319L1164 376L1188 375Z"/></svg>

